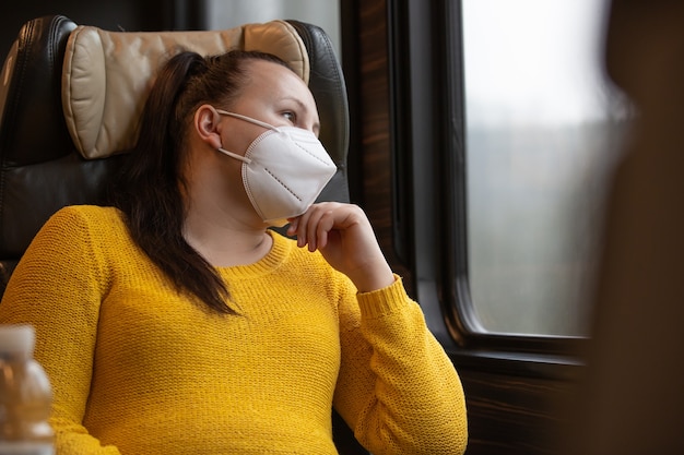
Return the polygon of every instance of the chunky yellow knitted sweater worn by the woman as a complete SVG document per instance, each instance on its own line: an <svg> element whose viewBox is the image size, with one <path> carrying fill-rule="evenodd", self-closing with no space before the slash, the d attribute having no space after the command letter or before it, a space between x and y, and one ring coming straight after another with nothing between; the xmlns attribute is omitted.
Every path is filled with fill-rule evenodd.
<svg viewBox="0 0 684 455"><path fill-rule="evenodd" d="M459 454L459 378L401 280L357 294L319 253L220 268L239 315L179 292L111 207L58 212L0 323L36 327L57 454L335 454L331 407L375 455Z"/></svg>

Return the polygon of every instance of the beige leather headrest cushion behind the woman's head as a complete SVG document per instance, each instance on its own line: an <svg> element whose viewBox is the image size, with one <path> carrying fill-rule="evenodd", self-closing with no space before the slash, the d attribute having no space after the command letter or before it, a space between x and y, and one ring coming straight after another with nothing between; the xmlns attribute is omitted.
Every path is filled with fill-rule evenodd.
<svg viewBox="0 0 684 455"><path fill-rule="evenodd" d="M306 47L284 21L209 32L107 32L79 26L69 36L62 73L67 128L83 157L132 148L158 69L174 55L260 50L284 61L308 84Z"/></svg>

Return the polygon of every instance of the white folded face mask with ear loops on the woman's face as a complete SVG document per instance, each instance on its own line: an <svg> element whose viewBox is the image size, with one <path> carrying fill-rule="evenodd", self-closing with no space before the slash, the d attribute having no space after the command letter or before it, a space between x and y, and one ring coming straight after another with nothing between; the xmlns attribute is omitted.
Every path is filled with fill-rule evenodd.
<svg viewBox="0 0 684 455"><path fill-rule="evenodd" d="M338 167L316 135L302 128L273 127L247 116L216 109L268 129L247 147L245 156L219 148L243 161L243 184L261 219L284 226L316 201Z"/></svg>

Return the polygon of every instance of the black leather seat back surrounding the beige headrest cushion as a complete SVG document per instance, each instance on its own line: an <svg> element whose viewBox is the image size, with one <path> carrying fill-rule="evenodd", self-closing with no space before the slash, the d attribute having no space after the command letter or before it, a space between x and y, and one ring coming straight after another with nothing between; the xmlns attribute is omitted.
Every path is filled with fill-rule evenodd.
<svg viewBox="0 0 684 455"><path fill-rule="evenodd" d="M338 165L319 200L346 202L349 108L342 70L320 27L287 22L306 46L320 139ZM116 155L84 159L67 130L62 67L75 27L61 15L28 21L4 61L0 87L0 297L16 262L47 218L64 205L102 203L108 179L121 161Z"/></svg>

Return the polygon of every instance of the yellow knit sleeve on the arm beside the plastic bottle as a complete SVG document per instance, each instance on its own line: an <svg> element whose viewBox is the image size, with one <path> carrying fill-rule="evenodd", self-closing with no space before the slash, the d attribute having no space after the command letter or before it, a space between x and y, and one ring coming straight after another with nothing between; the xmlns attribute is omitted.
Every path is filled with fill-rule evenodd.
<svg viewBox="0 0 684 455"><path fill-rule="evenodd" d="M86 410L99 304L106 288L89 224L66 208L40 229L10 278L0 323L36 330L35 358L52 385L57 453L118 454L82 426Z"/></svg>

